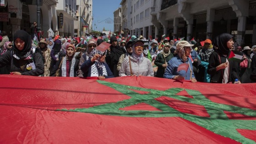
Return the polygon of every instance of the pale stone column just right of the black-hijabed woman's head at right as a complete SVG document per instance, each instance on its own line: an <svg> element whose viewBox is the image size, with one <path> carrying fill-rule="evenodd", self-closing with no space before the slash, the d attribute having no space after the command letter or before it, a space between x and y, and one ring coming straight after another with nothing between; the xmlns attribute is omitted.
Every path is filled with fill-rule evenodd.
<svg viewBox="0 0 256 144"><path fill-rule="evenodd" d="M244 44L245 26L246 26L246 16L239 16L238 17L237 39L236 39L236 42L240 46L242 44Z"/></svg>

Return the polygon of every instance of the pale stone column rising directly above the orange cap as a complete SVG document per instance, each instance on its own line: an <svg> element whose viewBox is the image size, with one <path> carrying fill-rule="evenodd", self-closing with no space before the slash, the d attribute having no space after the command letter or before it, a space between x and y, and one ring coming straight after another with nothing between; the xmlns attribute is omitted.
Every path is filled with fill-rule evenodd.
<svg viewBox="0 0 256 144"><path fill-rule="evenodd" d="M206 38L213 39L213 21L215 16L214 9L208 9L206 14L206 21L207 21L207 31L206 31Z"/></svg>

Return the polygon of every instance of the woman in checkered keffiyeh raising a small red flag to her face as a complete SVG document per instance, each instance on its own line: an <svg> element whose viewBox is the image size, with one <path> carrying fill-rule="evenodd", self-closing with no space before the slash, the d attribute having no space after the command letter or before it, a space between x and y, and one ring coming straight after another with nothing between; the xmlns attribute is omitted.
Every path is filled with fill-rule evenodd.
<svg viewBox="0 0 256 144"><path fill-rule="evenodd" d="M98 77L98 79L113 78L114 75L105 62L106 53L94 48L89 56L89 59L81 65L81 70L84 77Z"/></svg>

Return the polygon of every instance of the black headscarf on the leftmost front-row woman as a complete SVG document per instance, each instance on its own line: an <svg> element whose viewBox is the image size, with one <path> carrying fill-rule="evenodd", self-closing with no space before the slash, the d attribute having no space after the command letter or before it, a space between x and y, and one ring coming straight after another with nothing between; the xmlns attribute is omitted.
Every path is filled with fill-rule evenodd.
<svg viewBox="0 0 256 144"><path fill-rule="evenodd" d="M16 54L16 56L18 56L19 58L22 59L22 57L24 57L26 54L30 55L31 54L31 47L32 47L32 39L31 39L31 35L28 34L26 31L23 30L19 30L17 31L14 36L13 36L13 41L15 43L17 38L20 38L22 41L25 42L24 44L24 48L22 50L19 50L16 47L16 44L13 45L13 51ZM27 58L27 56L25 56Z"/></svg>

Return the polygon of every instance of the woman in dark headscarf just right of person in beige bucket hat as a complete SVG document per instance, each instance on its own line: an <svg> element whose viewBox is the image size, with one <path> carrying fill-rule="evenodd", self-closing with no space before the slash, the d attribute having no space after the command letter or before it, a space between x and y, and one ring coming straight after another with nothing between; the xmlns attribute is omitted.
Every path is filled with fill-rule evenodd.
<svg viewBox="0 0 256 144"><path fill-rule="evenodd" d="M59 61L59 58L61 57L60 54L60 49L61 49L61 41L60 40L56 40L54 43L54 47L51 50L51 64L50 64L50 75L52 74L53 71L53 67L55 66L55 64ZM63 56L66 53L63 54Z"/></svg>

